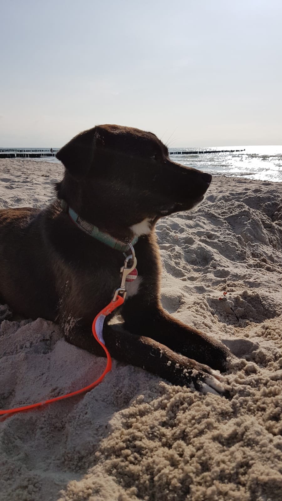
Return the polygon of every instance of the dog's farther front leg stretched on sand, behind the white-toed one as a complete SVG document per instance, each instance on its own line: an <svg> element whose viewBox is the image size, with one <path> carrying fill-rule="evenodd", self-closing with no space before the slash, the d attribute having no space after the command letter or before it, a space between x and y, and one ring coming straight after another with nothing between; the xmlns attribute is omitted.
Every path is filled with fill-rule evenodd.
<svg viewBox="0 0 282 501"><path fill-rule="evenodd" d="M157 299L148 304L144 294L129 298L122 310L125 329L132 334L148 336L186 357L226 370L229 350L204 333L179 322L163 310Z"/></svg>

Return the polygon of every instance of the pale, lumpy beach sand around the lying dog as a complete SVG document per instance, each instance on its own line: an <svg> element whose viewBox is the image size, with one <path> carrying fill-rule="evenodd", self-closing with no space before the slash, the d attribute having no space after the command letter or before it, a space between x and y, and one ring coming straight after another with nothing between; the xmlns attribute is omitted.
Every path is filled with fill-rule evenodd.
<svg viewBox="0 0 282 501"><path fill-rule="evenodd" d="M0 207L44 206L61 172L0 160ZM199 207L157 233L163 305L237 356L233 398L113 361L84 396L0 422L1 501L282 500L282 184L214 177ZM102 372L55 324L13 320L7 306L0 317L0 408Z"/></svg>

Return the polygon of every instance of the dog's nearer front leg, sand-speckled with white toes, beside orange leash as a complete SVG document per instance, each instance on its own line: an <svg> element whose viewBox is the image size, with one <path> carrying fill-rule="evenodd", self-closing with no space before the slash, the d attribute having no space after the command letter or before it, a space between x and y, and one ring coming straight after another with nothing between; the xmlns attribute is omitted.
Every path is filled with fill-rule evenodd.
<svg viewBox="0 0 282 501"><path fill-rule="evenodd" d="M79 348L104 356L103 349L91 333L91 326L82 329L78 322L76 327L79 328L76 329L75 323L73 325L74 328L68 328L65 333L66 340ZM103 338L110 355L120 362L143 368L173 384L194 386L203 393L226 394L220 375L210 367L179 355L153 339L134 336L118 325L107 324L103 327Z"/></svg>

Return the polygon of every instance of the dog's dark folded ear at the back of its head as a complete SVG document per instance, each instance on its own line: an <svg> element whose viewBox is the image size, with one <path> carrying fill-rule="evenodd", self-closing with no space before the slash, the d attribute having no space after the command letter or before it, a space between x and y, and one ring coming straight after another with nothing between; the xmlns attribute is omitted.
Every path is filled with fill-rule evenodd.
<svg viewBox="0 0 282 501"><path fill-rule="evenodd" d="M94 147L95 127L73 137L56 153L56 157L75 179L82 179L92 165Z"/></svg>

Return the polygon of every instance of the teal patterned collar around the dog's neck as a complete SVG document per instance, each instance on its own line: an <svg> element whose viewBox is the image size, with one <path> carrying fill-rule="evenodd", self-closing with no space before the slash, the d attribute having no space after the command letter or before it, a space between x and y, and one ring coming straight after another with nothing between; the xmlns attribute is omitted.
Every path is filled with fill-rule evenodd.
<svg viewBox="0 0 282 501"><path fill-rule="evenodd" d="M96 240L105 243L106 245L108 245L113 249L121 250L121 252L126 252L127 250L130 249L127 243L121 242L120 240L117 240L117 238L114 238L113 236L109 235L108 233L100 231L99 228L97 228L97 226L94 226L94 224L91 224L85 221L85 219L82 219L82 217L80 217L71 207L68 206L65 200L60 200L60 202L63 210L70 215L71 219L80 229L82 229L82 231L84 231L90 236L93 236L94 238L96 238ZM135 245L137 240L138 237L135 236L133 240L131 240L130 242L131 245Z"/></svg>

